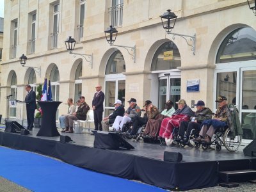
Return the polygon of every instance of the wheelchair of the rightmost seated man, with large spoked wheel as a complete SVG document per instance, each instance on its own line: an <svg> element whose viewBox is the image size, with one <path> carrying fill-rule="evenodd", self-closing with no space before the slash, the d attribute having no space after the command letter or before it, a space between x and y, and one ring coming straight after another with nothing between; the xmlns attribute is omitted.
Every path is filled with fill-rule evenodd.
<svg viewBox="0 0 256 192"><path fill-rule="evenodd" d="M236 152L236 150L241 145L241 141L241 135L237 135L236 138L232 138L230 129L226 127L221 127L219 130L216 130L216 132L212 136L211 143L194 141L194 146L195 148L200 148L200 146L202 145L203 150L207 150L207 148L215 148L217 152L221 150L221 146L224 146L229 152Z"/></svg>

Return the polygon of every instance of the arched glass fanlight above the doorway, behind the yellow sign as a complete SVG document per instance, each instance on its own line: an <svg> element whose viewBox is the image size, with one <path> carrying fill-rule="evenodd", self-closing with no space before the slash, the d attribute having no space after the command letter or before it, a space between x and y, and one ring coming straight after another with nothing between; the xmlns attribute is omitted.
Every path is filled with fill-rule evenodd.
<svg viewBox="0 0 256 192"><path fill-rule="evenodd" d="M164 57L166 51L172 51L172 58ZM173 42L166 42L162 44L154 54L151 71L154 70L170 70L181 66L180 52Z"/></svg>

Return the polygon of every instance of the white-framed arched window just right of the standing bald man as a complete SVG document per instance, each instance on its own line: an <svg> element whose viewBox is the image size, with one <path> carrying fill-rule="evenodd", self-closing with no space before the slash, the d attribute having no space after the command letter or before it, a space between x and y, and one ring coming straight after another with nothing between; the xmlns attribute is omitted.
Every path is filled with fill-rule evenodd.
<svg viewBox="0 0 256 192"><path fill-rule="evenodd" d="M116 99L122 100L124 103L125 98L125 72L124 56L120 51L115 51L109 57L105 71L105 115L109 115L115 109L113 104Z"/></svg>

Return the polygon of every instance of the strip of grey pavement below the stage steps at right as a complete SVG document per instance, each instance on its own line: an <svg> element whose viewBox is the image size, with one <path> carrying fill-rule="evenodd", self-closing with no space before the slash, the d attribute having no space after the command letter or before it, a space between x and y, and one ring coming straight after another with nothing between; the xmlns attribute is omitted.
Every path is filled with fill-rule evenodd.
<svg viewBox="0 0 256 192"><path fill-rule="evenodd" d="M252 184L250 182L243 182L240 183L239 187L237 188L223 188L220 186L212 187L212 188L205 188L205 189L193 189L189 190L189 192L199 192L199 191L209 191L209 192L233 192L233 191L239 191L239 192L253 192L256 191L256 184Z"/></svg>

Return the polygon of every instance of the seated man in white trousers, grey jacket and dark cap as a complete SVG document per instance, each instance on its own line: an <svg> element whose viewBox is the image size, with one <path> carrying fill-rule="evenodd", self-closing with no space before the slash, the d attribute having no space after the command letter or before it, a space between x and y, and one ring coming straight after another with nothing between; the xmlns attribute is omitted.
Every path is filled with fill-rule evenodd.
<svg viewBox="0 0 256 192"><path fill-rule="evenodd" d="M136 104L137 100L131 98L129 101L129 108L125 111L124 116L116 116L115 122L112 125L114 131L122 131L124 124L131 122L132 118L141 115L141 109Z"/></svg>

